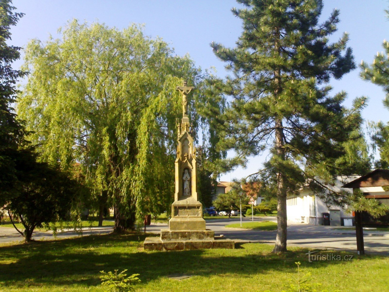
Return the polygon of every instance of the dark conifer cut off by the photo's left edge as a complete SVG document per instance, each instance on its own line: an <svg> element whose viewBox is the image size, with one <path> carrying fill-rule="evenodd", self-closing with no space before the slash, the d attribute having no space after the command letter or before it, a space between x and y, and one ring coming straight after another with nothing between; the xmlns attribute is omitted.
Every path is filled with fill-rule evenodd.
<svg viewBox="0 0 389 292"><path fill-rule="evenodd" d="M12 69L11 64L19 59L21 48L7 45L11 40L11 26L24 14L14 12L16 8L11 4L9 0L0 1L0 206L14 193L17 185L15 159L19 146L25 143L25 128L16 120L12 105L18 93L16 81L27 73Z"/></svg>

